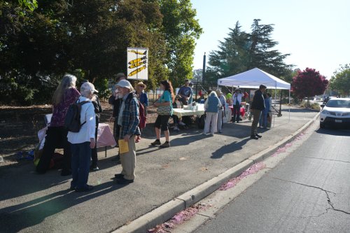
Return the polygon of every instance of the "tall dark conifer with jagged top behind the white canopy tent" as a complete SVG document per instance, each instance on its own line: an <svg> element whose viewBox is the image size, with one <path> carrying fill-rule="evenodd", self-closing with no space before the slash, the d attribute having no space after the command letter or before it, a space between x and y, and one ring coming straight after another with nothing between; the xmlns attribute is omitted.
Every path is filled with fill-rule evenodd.
<svg viewBox="0 0 350 233"><path fill-rule="evenodd" d="M289 54L274 50L278 42L273 41L271 34L273 24L259 24L253 20L251 33L241 31L239 22L230 29L228 37L219 42L219 50L209 55L208 76L211 79L232 76L237 73L258 67L274 76L288 76L293 65L283 62Z"/></svg>

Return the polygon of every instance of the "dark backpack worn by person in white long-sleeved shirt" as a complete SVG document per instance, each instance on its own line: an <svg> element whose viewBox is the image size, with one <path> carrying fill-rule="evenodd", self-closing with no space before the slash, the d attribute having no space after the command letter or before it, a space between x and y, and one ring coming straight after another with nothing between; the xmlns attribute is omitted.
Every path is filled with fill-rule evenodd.
<svg viewBox="0 0 350 233"><path fill-rule="evenodd" d="M83 124L80 123L80 111L81 106L89 102L90 101L79 101L69 106L66 113L66 118L64 119L64 127L66 127L68 131L77 133L80 131L80 128L86 123L86 121L83 122Z"/></svg>

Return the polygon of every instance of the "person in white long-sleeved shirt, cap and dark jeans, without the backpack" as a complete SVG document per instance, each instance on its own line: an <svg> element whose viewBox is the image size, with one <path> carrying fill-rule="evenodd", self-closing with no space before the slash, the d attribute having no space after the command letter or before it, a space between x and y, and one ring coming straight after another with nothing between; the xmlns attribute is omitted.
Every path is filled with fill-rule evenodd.
<svg viewBox="0 0 350 233"><path fill-rule="evenodd" d="M80 110L80 123L83 124L79 132L68 132L67 138L71 143L71 190L76 192L86 192L92 190L92 185L87 185L89 178L91 149L95 146L95 114L94 106L91 102L94 92L92 83L83 83L80 87L81 96L77 101L90 101L83 104Z"/></svg>

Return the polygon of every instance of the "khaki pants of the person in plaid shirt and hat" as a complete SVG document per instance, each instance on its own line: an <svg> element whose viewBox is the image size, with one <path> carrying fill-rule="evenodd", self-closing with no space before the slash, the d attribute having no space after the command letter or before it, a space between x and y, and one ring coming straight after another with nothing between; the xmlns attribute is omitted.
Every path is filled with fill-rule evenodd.
<svg viewBox="0 0 350 233"><path fill-rule="evenodd" d="M135 135L130 137L129 152L120 154L120 162L122 163L122 172L127 180L134 180L136 167L136 145Z"/></svg>

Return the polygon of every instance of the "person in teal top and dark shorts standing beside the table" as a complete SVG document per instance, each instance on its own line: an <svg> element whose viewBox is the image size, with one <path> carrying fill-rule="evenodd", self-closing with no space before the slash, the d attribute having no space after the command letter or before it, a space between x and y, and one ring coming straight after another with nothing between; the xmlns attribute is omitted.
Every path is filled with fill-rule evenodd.
<svg viewBox="0 0 350 233"><path fill-rule="evenodd" d="M152 146L160 146L160 148L170 147L169 143L169 118L173 113L172 103L174 102L174 90L172 83L168 80L160 82L160 88L163 91L162 96L154 103L157 107L157 119L155 120L155 134L157 139L151 143ZM160 130L165 134L165 143L160 143Z"/></svg>

